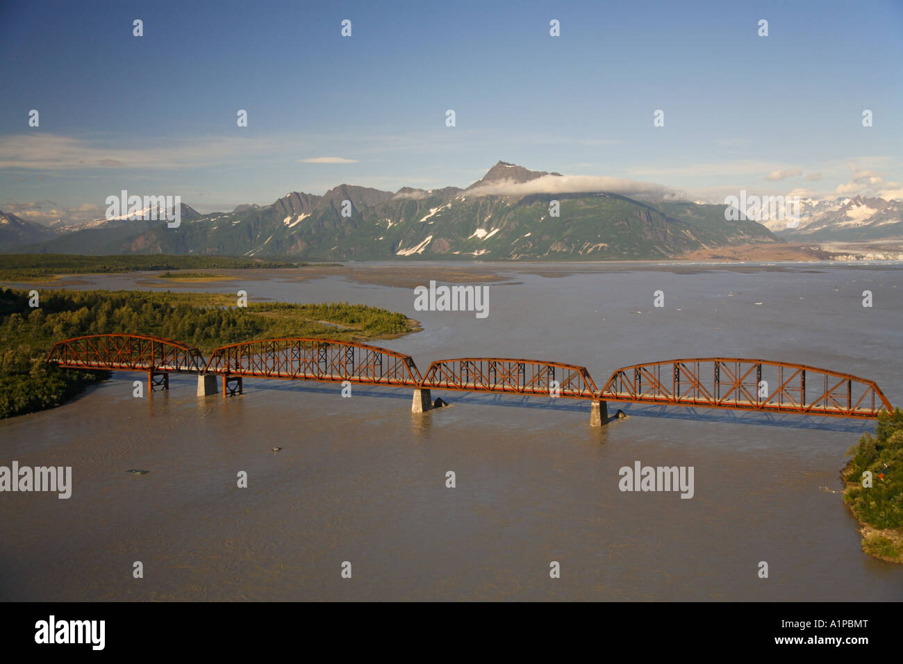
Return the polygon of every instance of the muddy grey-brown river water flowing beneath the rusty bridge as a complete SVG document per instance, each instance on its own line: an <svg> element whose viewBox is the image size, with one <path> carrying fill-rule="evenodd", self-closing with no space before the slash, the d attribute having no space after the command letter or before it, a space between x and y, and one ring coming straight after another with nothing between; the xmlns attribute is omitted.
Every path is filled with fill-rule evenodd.
<svg viewBox="0 0 903 664"><path fill-rule="evenodd" d="M417 268L424 285L438 268ZM410 285L368 270L385 265L191 290L404 312L424 331L377 343L422 372L526 357L583 365L601 385L638 362L754 357L873 379L903 403L900 265L480 265L503 277L482 319L414 311ZM154 287L147 277L69 287ZM172 376L168 392L133 397L144 378L116 372L0 421L0 465L73 478L69 500L0 494L0 600L903 599L903 566L861 552L832 492L869 422L621 406L628 419L593 429L588 402L569 399L434 391L452 407L413 414L409 389L342 398L339 385L246 379L224 399ZM693 466L694 497L619 491L619 468L637 461Z"/></svg>

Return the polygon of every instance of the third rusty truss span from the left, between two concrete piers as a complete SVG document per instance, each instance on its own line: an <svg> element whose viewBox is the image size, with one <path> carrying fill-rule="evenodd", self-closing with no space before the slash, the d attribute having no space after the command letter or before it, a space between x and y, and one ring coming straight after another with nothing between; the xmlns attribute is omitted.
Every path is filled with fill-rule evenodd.
<svg viewBox="0 0 903 664"><path fill-rule="evenodd" d="M573 364L510 358L436 360L426 369L422 388L460 389L551 397L592 398L589 371Z"/></svg>

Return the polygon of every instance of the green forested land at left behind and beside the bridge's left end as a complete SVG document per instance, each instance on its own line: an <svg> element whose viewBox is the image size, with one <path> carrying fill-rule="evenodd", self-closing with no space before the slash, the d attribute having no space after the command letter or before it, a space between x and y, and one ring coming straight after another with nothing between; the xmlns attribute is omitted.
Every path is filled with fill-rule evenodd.
<svg viewBox="0 0 903 664"><path fill-rule="evenodd" d="M402 313L364 304L256 303L233 295L146 291L40 293L0 288L0 417L56 407L104 371L58 369L44 360L56 341L86 334L134 332L197 346L202 352L273 337L387 339L419 328Z"/></svg>

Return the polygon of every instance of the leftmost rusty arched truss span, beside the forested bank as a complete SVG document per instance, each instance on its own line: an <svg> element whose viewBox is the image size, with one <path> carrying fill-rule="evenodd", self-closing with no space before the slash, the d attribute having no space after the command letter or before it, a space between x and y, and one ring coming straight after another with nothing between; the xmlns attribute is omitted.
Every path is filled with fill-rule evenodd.
<svg viewBox="0 0 903 664"><path fill-rule="evenodd" d="M53 344L47 361L68 369L200 371L194 346L146 334L90 334Z"/></svg>

